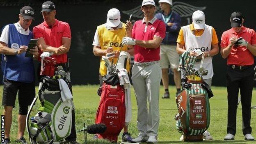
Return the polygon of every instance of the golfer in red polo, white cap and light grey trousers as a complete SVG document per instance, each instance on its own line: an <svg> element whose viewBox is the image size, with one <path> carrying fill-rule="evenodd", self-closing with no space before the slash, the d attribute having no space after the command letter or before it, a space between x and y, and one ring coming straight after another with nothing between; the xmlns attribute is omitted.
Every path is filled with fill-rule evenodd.
<svg viewBox="0 0 256 144"><path fill-rule="evenodd" d="M136 21L134 26L127 23L127 37L122 41L129 48L134 48L132 81L138 106L139 136L132 141L157 143L159 87L162 78L160 43L165 38L165 23L155 18L153 0L143 0L141 9L144 18Z"/></svg>

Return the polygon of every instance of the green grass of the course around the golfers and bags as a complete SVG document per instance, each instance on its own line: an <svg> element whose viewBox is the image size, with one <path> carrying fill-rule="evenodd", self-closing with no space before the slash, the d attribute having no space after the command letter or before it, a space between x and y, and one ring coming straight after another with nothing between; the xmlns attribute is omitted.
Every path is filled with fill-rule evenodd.
<svg viewBox="0 0 256 144"><path fill-rule="evenodd" d="M97 95L98 85L76 85L73 86L73 100L75 103L75 121L76 121L76 130L83 128L83 123L87 125L93 124L95 119L96 110L98 108L98 102L100 97ZM174 95L176 89L173 86L169 87L171 98L162 99L160 98L159 107L160 107L160 125L158 133L158 144L188 144L191 142L180 142L180 134L176 130L176 121L174 120L175 114L178 112L176 108L176 102ZM213 136L214 140L212 141L203 141L203 142L192 142L200 144L253 144L255 142L249 142L243 140L242 135L242 109L241 104L238 106L237 111L237 133L235 135L235 141L224 141L223 138L226 135L226 126L227 126L227 93L226 87L212 87L214 97L210 99L211 107L211 119L210 127L208 131ZM162 96L164 90L163 87L160 88L160 96ZM256 90L253 91L253 98L251 105L256 105ZM2 100L2 86L0 87L0 99ZM39 105L39 100L37 105L35 105L34 110L31 116L37 112ZM2 111L3 107L1 107ZM135 95L132 90L132 112L133 119L129 125L129 132L132 134L132 137L136 137L138 134L137 131L137 105ZM16 101L16 108L13 111L13 122L11 126L11 142L14 144L17 133L17 114L18 114L18 101ZM256 109L251 110L251 127L252 135L256 137ZM78 142L84 143L83 133L77 133ZM119 135L119 142L121 142L121 135ZM93 135L88 134L88 144L110 144L105 140L93 140L91 139ZM28 140L28 135L25 132L25 138Z"/></svg>

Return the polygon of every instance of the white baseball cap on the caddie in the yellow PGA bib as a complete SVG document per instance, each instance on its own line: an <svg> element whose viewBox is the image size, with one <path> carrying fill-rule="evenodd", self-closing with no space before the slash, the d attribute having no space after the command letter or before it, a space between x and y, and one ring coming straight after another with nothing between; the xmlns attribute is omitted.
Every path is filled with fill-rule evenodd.
<svg viewBox="0 0 256 144"><path fill-rule="evenodd" d="M117 27L120 24L120 11L112 8L107 12L107 25L110 27Z"/></svg>

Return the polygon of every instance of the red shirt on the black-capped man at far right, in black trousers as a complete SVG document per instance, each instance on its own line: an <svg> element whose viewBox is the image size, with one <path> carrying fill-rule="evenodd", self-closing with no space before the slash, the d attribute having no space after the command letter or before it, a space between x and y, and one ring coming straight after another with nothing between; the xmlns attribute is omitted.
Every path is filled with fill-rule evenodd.
<svg viewBox="0 0 256 144"><path fill-rule="evenodd" d="M232 37L243 37L248 43L251 45L256 44L256 33L254 30L249 29L247 27L242 26L242 31L238 34L236 33L233 28L223 32L220 47L226 48L229 46L229 40ZM254 55L245 47L245 46L238 46L234 48L233 46L231 52L229 54L227 64L234 64L238 66L249 66L254 64Z"/></svg>

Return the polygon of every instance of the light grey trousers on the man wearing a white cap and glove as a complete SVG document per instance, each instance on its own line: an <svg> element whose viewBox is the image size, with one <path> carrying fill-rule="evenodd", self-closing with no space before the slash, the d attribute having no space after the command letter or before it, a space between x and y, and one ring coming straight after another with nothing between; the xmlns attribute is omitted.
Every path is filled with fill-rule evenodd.
<svg viewBox="0 0 256 144"><path fill-rule="evenodd" d="M149 66L133 65L132 81L138 107L137 128L139 136L158 135L161 78L160 63Z"/></svg>

